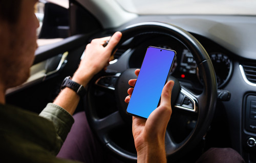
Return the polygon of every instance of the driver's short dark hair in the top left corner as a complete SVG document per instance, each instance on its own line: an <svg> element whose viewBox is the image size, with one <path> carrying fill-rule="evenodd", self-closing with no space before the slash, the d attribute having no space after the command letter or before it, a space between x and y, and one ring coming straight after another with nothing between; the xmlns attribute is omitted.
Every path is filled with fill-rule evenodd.
<svg viewBox="0 0 256 163"><path fill-rule="evenodd" d="M16 23L23 0L0 0L0 20Z"/></svg>

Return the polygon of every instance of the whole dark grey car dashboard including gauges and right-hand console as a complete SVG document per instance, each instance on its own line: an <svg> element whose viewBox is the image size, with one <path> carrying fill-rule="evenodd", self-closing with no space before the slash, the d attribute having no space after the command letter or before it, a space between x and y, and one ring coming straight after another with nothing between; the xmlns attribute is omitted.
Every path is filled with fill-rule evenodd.
<svg viewBox="0 0 256 163"><path fill-rule="evenodd" d="M251 16L142 15L116 29L139 22L162 21L185 29L203 45L215 68L218 89L231 95L228 101L217 101L211 131L206 139L214 142L211 147L237 150L246 162L256 162L256 149L250 145L250 140L256 139L256 120L251 113L253 108L250 108L253 107L250 102L256 101L255 20ZM133 46L132 42L136 45ZM177 58L172 76L178 78L182 86L201 93L203 85L195 60L188 48L175 38L134 38L130 43L133 52L127 68L140 68L148 46L175 50Z"/></svg>

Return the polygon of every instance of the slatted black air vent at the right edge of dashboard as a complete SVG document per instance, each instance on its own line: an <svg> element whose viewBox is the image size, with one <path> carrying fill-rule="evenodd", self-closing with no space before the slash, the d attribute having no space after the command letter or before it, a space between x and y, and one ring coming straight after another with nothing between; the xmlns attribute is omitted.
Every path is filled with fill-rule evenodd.
<svg viewBox="0 0 256 163"><path fill-rule="evenodd" d="M256 83L256 63L244 63L244 72L251 83Z"/></svg>

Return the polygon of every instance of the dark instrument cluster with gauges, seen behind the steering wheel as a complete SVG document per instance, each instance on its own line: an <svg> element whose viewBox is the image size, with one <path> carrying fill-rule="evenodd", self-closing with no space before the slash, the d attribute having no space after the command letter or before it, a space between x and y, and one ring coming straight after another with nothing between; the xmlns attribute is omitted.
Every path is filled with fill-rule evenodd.
<svg viewBox="0 0 256 163"><path fill-rule="evenodd" d="M202 36L195 36L199 42L204 43L204 47L208 52L212 64L214 65L218 89L223 89L228 83L233 71L233 53L221 47ZM134 46L134 51L129 59L129 68L140 68L145 50L148 46L157 46L166 49L172 49L177 52L171 75L178 78L182 85L187 88L200 92L203 88L200 72L197 68L196 61L189 49L175 38L169 37L148 37L143 39L133 38L131 42L140 42ZM130 43L131 44L131 43ZM121 47L122 48L122 47ZM125 48L125 47L123 47Z"/></svg>

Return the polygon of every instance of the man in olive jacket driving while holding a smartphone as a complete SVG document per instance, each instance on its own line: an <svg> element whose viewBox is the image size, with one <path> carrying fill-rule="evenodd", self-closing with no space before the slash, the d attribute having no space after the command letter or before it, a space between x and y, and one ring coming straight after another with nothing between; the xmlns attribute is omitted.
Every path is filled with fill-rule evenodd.
<svg viewBox="0 0 256 163"><path fill-rule="evenodd" d="M23 84L29 77L37 48L36 2L0 0L0 162L73 162L55 155L74 121L71 115L80 100L74 90L64 88L40 117L5 102L6 90ZM72 81L86 86L93 75L108 65L120 38L121 33L117 32L106 47L102 45L109 37L94 39L88 44ZM164 135L172 114L170 94L173 84L168 82L165 85L161 105L147 121L134 118L138 162L166 161ZM159 116L163 116L161 121Z"/></svg>

